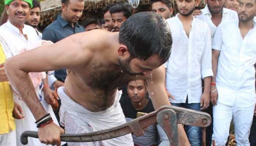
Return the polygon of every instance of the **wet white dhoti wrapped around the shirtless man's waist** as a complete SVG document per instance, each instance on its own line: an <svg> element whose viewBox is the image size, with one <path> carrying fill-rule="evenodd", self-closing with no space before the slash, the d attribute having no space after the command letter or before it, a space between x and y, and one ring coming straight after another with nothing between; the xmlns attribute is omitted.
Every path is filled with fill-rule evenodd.
<svg viewBox="0 0 256 146"><path fill-rule="evenodd" d="M65 133L78 134L105 130L126 123L123 110L119 103L121 91L116 93L114 104L105 111L91 112L82 105L71 100L64 92L64 87L58 88L61 99L60 123L65 126ZM133 146L132 135L108 139L105 141L70 143L68 146Z"/></svg>

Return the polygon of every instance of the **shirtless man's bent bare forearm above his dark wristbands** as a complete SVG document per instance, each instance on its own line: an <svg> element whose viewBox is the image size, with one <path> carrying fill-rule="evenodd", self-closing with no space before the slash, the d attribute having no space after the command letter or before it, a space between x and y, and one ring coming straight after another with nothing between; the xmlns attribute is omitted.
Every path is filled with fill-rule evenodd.
<svg viewBox="0 0 256 146"><path fill-rule="evenodd" d="M19 69L18 65L11 60L10 58L5 62L5 72L14 89L18 92L23 101L25 101L35 119L38 120L47 113L38 100L29 74Z"/></svg>

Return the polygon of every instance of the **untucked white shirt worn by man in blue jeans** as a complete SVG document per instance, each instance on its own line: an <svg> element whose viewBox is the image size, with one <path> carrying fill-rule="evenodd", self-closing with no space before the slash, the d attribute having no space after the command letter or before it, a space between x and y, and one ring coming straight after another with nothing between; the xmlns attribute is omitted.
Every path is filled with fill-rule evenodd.
<svg viewBox="0 0 256 146"><path fill-rule="evenodd" d="M208 25L197 18L192 20L189 38L178 16L167 19L173 45L165 63L166 88L176 100L172 103L200 103L202 78L213 76L211 68L211 34Z"/></svg>

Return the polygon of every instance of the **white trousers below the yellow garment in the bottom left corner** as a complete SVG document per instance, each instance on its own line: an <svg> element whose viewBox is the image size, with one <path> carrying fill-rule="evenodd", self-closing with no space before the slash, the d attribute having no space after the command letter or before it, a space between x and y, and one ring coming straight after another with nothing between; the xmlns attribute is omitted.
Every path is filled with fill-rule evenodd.
<svg viewBox="0 0 256 146"><path fill-rule="evenodd" d="M16 131L0 134L0 146L16 146Z"/></svg>

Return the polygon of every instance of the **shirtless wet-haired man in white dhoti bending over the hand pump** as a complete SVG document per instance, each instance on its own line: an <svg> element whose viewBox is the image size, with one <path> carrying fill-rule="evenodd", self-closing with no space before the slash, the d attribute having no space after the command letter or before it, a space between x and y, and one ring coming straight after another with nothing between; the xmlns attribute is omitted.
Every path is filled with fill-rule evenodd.
<svg viewBox="0 0 256 146"><path fill-rule="evenodd" d="M125 123L117 88L129 80L145 80L155 109L170 105L163 63L170 56L171 45L165 19L153 12L139 12L122 24L120 32L92 30L71 35L7 59L4 67L36 120L47 113L38 101L28 73L69 69L65 88L58 89L63 101L60 114L64 118L65 133L91 132ZM42 143L60 146L63 129L50 121L38 125ZM180 145L189 145L182 125L178 129ZM87 144L132 146L133 142L129 134L83 145Z"/></svg>

